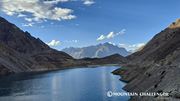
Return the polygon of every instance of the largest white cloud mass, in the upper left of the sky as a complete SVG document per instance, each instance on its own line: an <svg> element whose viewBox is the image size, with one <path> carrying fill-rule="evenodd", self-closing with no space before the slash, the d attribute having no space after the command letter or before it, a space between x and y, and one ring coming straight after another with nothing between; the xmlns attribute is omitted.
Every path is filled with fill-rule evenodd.
<svg viewBox="0 0 180 101"><path fill-rule="evenodd" d="M68 0L0 0L0 10L7 15L16 15L26 17L25 20L39 22L41 20L70 20L76 18L71 13L73 10L67 8L56 7L58 2L67 2ZM21 13L28 13L21 15Z"/></svg>

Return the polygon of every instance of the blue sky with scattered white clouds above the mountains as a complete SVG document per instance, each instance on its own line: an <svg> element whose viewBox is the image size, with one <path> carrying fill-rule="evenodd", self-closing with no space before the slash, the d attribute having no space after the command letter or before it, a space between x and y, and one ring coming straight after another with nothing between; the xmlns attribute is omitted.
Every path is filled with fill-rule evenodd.
<svg viewBox="0 0 180 101"><path fill-rule="evenodd" d="M136 50L179 17L179 0L0 0L0 16L50 47Z"/></svg>

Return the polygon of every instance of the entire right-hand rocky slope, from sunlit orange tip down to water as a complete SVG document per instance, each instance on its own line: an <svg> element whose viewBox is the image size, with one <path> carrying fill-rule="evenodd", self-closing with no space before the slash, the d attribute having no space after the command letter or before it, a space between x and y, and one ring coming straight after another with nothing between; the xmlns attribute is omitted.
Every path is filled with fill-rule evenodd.
<svg viewBox="0 0 180 101"><path fill-rule="evenodd" d="M180 100L180 19L126 57L129 63L115 70L129 82L130 92L168 92L168 97L132 97L132 101Z"/></svg>

